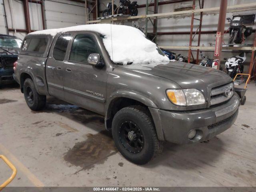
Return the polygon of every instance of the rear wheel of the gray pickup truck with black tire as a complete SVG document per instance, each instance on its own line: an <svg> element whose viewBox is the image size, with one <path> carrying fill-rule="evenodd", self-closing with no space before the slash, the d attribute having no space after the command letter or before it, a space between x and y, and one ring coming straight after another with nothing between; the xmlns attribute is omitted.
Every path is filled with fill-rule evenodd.
<svg viewBox="0 0 256 192"><path fill-rule="evenodd" d="M28 107L33 111L42 110L46 105L46 96L36 91L33 81L27 78L23 86L24 98Z"/></svg>

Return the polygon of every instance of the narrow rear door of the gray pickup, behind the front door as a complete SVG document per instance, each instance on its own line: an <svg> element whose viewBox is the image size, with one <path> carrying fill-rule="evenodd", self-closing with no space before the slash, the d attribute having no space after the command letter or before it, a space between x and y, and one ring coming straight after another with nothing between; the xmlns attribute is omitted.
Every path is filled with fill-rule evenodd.
<svg viewBox="0 0 256 192"><path fill-rule="evenodd" d="M50 95L64 100L63 73L66 49L71 39L71 34L60 34L55 38L49 57L46 61L46 80Z"/></svg>

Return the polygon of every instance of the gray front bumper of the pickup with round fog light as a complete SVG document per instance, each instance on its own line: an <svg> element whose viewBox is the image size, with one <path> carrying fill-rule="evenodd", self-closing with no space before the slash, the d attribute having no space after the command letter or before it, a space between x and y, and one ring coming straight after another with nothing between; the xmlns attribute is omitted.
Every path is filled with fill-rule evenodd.
<svg viewBox="0 0 256 192"><path fill-rule="evenodd" d="M202 110L166 111L149 108L158 139L177 144L203 142L224 132L238 116L239 98L234 95L222 105ZM196 136L188 139L188 133L196 130Z"/></svg>

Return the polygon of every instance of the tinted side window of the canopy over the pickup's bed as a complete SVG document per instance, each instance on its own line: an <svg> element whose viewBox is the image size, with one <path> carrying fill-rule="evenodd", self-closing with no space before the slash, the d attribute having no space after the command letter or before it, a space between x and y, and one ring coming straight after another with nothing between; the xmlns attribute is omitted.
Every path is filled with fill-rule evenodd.
<svg viewBox="0 0 256 192"><path fill-rule="evenodd" d="M46 50L48 38L26 38L22 51L43 54Z"/></svg>

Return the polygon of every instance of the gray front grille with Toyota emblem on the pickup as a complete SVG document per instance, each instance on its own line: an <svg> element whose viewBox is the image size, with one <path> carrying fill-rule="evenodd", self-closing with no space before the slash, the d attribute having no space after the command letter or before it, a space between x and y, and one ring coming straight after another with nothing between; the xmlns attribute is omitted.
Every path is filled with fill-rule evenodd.
<svg viewBox="0 0 256 192"><path fill-rule="evenodd" d="M211 91L210 106L229 100L234 94L233 82L213 88Z"/></svg>

